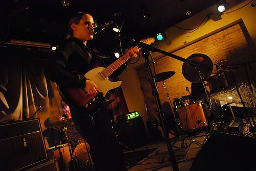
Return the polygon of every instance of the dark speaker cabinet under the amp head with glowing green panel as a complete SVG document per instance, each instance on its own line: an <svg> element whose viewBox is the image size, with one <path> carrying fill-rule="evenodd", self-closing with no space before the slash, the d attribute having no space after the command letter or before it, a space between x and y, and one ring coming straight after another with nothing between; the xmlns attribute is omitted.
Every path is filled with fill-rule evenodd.
<svg viewBox="0 0 256 171"><path fill-rule="evenodd" d="M148 142L148 137L141 116L126 120L125 115L118 116L115 127L118 140L131 148L139 148Z"/></svg>

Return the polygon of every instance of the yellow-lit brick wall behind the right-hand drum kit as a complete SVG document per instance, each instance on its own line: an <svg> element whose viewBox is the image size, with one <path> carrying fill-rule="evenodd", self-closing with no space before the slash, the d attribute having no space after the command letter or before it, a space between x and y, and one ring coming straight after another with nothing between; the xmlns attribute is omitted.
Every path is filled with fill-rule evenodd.
<svg viewBox="0 0 256 171"><path fill-rule="evenodd" d="M255 46L253 45L242 21L172 53L183 58L187 58L191 54L202 53L210 57L214 64L216 61L224 59L228 60L225 63L226 65L255 60ZM167 90L172 101L175 97L189 95L185 90L185 87L188 86L190 89L191 82L187 81L182 75L183 62L167 56L164 56L155 62L157 73L169 70L176 72L172 78L166 80ZM251 67L248 67L248 69L251 69L251 76L255 79L255 63L250 64L250 66ZM216 72L215 66L214 72ZM245 71L242 65L239 65L238 68L236 68L236 73L238 73L237 78L239 78L241 82L244 82ZM138 67L137 74L144 93L148 115L149 118L151 118L153 117L153 112L157 113L157 107L154 97L152 96L150 83L147 82L149 77L146 66L143 65ZM161 102L168 101L165 89L162 87L162 82L158 83L158 90Z"/></svg>

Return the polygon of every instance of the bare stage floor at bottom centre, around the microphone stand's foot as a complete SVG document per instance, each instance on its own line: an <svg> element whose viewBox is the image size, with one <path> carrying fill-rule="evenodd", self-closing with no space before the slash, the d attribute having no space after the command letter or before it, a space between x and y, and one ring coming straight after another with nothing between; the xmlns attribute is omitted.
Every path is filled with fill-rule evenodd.
<svg viewBox="0 0 256 171"><path fill-rule="evenodd" d="M191 164L196 158L199 150L201 149L201 146L192 142L192 140L195 140L196 142L199 143L203 143L205 138L202 136L202 134L200 135L199 137L191 137L191 140L189 140L189 138L186 137L184 140L185 146L187 146L186 148L181 148L181 140L171 139L171 142L173 144L173 152L177 158L178 167L180 171L189 170ZM129 171L173 170L172 164L169 161L169 154L167 151L167 145L165 141L147 144L136 150L139 151L154 148L157 148L157 150L148 155L147 158L139 161L138 164L130 168Z"/></svg>

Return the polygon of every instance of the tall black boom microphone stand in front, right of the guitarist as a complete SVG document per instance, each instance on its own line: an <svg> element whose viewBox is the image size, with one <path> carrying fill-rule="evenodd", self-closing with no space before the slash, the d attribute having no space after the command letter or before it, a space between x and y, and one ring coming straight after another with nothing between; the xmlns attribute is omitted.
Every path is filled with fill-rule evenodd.
<svg viewBox="0 0 256 171"><path fill-rule="evenodd" d="M150 64L150 60L148 59L148 56L150 55L150 51L159 52L161 54L167 55L167 56L169 56L171 58L174 58L174 59L177 59L179 61L186 62L186 63L190 64L191 66L194 66L198 69L207 70L207 68L205 68L205 66L203 64L199 63L199 62L187 60L187 59L179 57L177 55L162 51L159 48L148 45L146 43L136 42L136 41L131 41L131 40L125 40L125 39L123 39L123 40L124 41L130 41L130 42L134 43L135 45L137 45L138 47L142 48L142 56L145 58L145 63L147 65L148 74L150 75L150 80L151 80L151 85L152 85L152 94L155 96L155 99L156 99L156 105L157 105L157 108L158 108L158 111L159 111L161 124L162 124L162 127L163 127L163 132L164 132L164 136L165 136L165 142L166 142L169 158L172 162L173 170L174 171L179 171L178 163L177 163L177 160L174 156L172 145L170 145L171 144L170 143L170 138L169 138L169 135L166 131L167 130L166 129L166 123L165 123L165 120L164 120L163 110L162 110L162 106L161 106L161 102L160 102L160 98L159 98L159 92L158 92L158 89L157 89L157 86L156 86L156 81L155 81L155 79L153 77L153 74L152 74L151 64Z"/></svg>

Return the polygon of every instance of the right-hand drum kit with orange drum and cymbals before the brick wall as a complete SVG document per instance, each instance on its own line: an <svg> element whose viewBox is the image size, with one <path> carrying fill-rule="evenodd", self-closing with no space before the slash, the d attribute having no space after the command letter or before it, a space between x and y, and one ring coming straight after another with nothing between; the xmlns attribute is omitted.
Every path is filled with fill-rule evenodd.
<svg viewBox="0 0 256 171"><path fill-rule="evenodd" d="M212 113L212 115L214 114L212 112L213 107L212 107L211 100L221 100L225 102L230 102L230 100L232 100L232 103L241 104L243 103L241 95L239 95L241 91L243 92L243 94L247 92L247 94L244 96L247 96L247 97L249 96L247 98L249 101L248 103L250 103L251 106L255 106L252 100L253 93L252 91L249 91L250 89L252 89L251 87L249 87L250 84L249 85L248 83L238 84L236 80L234 80L233 78L234 76L232 75L233 73L230 67L229 67L230 69L229 71L223 72L221 70L218 70L218 73L216 75L210 76L212 74L214 64L212 63L211 59L208 56L204 54L193 54L189 56L187 59L190 61L199 62L204 66L206 66L204 69L199 69L189 65L188 63L183 63L182 74L184 78L191 83L198 83L198 85L202 83L201 85L203 87L203 92L206 96L206 99L207 99L206 101L208 102L209 111ZM220 66L220 63L216 65L218 69L218 66ZM160 82L160 81L163 82L162 87L165 89L170 107L172 107L172 103L170 102L170 97L166 88L165 80L167 80L168 78L174 75L175 75L174 71L166 71L166 72L161 72L160 74L157 74L155 76L155 79L157 82ZM205 84L205 81L207 81L208 83ZM206 85L209 86L211 95L208 94L205 87ZM186 88L186 90L188 90L188 87ZM207 117L204 111L205 108L203 108L204 104L202 104L202 101L200 100L191 101L189 96L190 95L184 96L184 97L177 97L173 101L175 111L172 107L172 112L174 114L174 118L176 120L179 133L191 132L191 131L198 130L200 128L204 136L203 128L208 126L207 119L206 119ZM175 115L178 115L179 119L176 119ZM215 118L214 123L211 125L215 126L216 117L214 116L214 118ZM184 146L182 136L180 136L180 138L182 140L181 145ZM205 138L207 139L207 136ZM203 145L201 143L194 141L193 139L189 139L189 140L195 142L200 146Z"/></svg>

